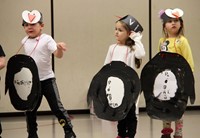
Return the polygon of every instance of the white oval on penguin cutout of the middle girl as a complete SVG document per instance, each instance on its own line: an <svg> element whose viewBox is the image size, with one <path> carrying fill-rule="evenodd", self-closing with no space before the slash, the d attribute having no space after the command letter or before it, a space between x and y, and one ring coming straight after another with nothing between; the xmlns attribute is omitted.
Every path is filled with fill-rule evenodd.
<svg viewBox="0 0 200 138"><path fill-rule="evenodd" d="M109 77L106 85L106 96L110 107L119 107L124 98L123 81L117 77Z"/></svg>

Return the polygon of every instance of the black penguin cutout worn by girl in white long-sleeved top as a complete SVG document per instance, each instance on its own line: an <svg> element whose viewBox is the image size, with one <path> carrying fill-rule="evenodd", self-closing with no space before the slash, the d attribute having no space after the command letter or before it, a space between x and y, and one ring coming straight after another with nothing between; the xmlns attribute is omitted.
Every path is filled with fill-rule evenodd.
<svg viewBox="0 0 200 138"><path fill-rule="evenodd" d="M112 61L93 77L87 98L97 117L118 121L126 117L140 90L137 73L124 62Z"/></svg>

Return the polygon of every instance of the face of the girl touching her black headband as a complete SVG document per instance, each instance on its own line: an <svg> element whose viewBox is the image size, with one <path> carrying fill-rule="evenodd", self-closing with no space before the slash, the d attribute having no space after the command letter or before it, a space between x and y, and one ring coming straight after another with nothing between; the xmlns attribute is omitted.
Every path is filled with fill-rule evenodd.
<svg viewBox="0 0 200 138"><path fill-rule="evenodd" d="M130 32L128 32L121 22L115 24L115 37L118 44L124 45L128 39Z"/></svg>

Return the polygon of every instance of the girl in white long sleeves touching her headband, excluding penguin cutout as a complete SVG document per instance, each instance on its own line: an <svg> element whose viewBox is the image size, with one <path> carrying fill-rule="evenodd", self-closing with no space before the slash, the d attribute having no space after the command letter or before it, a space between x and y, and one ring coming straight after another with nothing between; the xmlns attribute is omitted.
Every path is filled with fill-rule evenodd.
<svg viewBox="0 0 200 138"><path fill-rule="evenodd" d="M122 61L131 68L139 68L140 62L136 60L145 56L145 50L141 43L143 31L141 25L130 15L119 19L115 24L116 44L109 47L105 64L111 61ZM135 114L135 104L130 109L127 116L118 121L117 138L134 138L137 129L137 117Z"/></svg>

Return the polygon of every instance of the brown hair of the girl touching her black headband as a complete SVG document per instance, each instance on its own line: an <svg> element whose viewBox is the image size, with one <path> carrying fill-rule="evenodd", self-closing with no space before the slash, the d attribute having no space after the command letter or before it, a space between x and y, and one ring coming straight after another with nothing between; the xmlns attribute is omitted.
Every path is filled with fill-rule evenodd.
<svg viewBox="0 0 200 138"><path fill-rule="evenodd" d="M131 29L127 26L126 23L122 22L122 21L118 21L120 22L123 27L126 29L127 32L131 32ZM135 46L135 41L132 40L130 37L128 37L128 39L125 41L125 45L127 45L128 47L130 47L131 50L135 50L134 46ZM140 68L142 63L142 59L138 59L135 57L135 66L136 68Z"/></svg>

